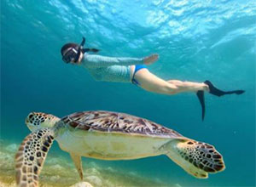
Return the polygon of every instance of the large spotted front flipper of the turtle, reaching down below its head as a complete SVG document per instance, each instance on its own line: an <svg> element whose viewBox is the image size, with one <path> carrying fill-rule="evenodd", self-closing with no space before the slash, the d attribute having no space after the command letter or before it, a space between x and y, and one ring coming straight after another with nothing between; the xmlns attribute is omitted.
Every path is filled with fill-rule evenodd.
<svg viewBox="0 0 256 187"><path fill-rule="evenodd" d="M17 186L38 186L38 176L53 141L54 132L50 128L40 129L26 136L15 156Z"/></svg>

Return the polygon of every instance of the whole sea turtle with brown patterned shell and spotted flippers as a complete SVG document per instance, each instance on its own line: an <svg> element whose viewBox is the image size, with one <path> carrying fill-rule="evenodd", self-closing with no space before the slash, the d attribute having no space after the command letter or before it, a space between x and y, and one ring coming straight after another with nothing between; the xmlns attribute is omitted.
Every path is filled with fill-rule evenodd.
<svg viewBox="0 0 256 187"><path fill-rule="evenodd" d="M196 178L224 170L222 156L203 142L141 117L111 111L76 112L63 118L32 112L32 131L15 156L18 186L38 186L38 175L54 139L67 151L83 179L81 156L102 160L131 160L166 155Z"/></svg>

